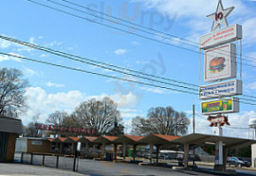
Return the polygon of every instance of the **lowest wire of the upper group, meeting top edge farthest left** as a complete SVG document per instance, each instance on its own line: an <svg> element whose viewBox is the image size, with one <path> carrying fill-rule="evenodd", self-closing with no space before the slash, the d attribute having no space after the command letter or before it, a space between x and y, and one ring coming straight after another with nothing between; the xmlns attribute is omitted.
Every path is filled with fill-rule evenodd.
<svg viewBox="0 0 256 176"><path fill-rule="evenodd" d="M164 42L164 41L161 41L161 40L155 40L155 39L153 39L153 38L149 38L149 37L147 37L147 36L145 36L145 35L141 35L141 34L138 34L138 33L132 33L132 32L130 32L130 31L127 31L127 30L124 30L124 29L121 29L121 28L118 28L118 27L115 27L115 26L109 26L109 25L106 25L106 24L103 24L103 23L94 21L94 20L89 19L89 18L81 17L81 16L79 16L79 15L73 14L73 13L68 12L68 11L62 11L62 10L56 9L56 8L51 7L51 6L49 6L49 5L46 5L46 4L41 4L41 3L38 3L38 2L34 2L33 0L27 0L27 1L29 1L29 2L31 2L31 3L34 3L34 4L41 5L41 6L43 6L43 7L49 8L49 9L54 10L54 11L60 11L60 12L62 12L62 13L71 15L71 16L76 17L76 18L85 19L85 20L87 20L87 21L89 21L89 22L92 22L92 23L95 23L95 24L98 24L98 25L107 26L107 27L113 28L113 29L115 29L115 30L122 31L122 32L124 32L124 33L130 33L130 34L139 36L139 37L144 38L144 39L147 39L147 40L153 40L153 41L162 43L162 44L164 44L164 45L169 45L169 46L172 46L172 47L175 47L175 48L181 48L181 49L184 49L184 50L187 50L187 51L191 51L192 53L196 53L196 54L200 54L200 55L201 55L201 53L200 53L199 51L195 51L195 50L192 50L192 49L190 49L190 48L180 47L180 46L171 44L171 43L169 43L169 42ZM204 55L204 54L203 54L203 55ZM214 55L212 55L212 56L214 56ZM230 56L230 55L229 55L229 56ZM231 62L233 62L233 61L231 61ZM251 65L251 64L247 64L247 63L245 63L245 62L244 62L243 64L246 65L246 66L249 66L249 67L256 67L256 65L254 66L254 65Z"/></svg>

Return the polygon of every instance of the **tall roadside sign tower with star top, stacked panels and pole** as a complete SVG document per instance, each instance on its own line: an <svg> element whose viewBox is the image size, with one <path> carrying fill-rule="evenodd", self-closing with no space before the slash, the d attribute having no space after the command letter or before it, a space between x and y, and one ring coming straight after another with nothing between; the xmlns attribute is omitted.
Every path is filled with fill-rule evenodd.
<svg viewBox="0 0 256 176"><path fill-rule="evenodd" d="M213 20L211 33L200 37L200 49L205 51L204 80L210 83L200 86L200 99L210 99L201 103L201 114L209 115L210 127L218 127L219 136L222 136L222 126L230 125L228 116L223 114L239 113L239 99L233 96L243 92L242 80L237 80L237 45L234 43L242 40L242 26L229 26L227 21L234 9L224 9L219 0L215 13L207 16ZM213 82L215 84L211 84ZM215 143L215 170L224 169L222 147L221 140Z"/></svg>

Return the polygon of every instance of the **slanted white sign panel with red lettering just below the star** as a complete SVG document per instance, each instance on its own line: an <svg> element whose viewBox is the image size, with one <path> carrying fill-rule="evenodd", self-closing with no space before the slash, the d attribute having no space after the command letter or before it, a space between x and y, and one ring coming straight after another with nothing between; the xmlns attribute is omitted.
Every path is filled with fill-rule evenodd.
<svg viewBox="0 0 256 176"><path fill-rule="evenodd" d="M222 30L208 33L200 37L200 49L213 48L218 45L241 40L243 38L242 26L233 25Z"/></svg>

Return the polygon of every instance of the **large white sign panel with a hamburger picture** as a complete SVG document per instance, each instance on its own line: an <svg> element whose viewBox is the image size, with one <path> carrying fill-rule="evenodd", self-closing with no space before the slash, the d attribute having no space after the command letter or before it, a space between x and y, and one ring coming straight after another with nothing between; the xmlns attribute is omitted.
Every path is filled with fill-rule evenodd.
<svg viewBox="0 0 256 176"><path fill-rule="evenodd" d="M237 77L236 45L229 43L205 52L205 81Z"/></svg>

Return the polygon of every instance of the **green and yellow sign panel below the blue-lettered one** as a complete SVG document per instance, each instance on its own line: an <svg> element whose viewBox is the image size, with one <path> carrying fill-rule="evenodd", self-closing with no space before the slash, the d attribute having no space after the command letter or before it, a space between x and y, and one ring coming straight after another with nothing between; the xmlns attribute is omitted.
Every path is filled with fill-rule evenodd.
<svg viewBox="0 0 256 176"><path fill-rule="evenodd" d="M239 99L232 98L202 102L201 111L203 115L239 113Z"/></svg>

